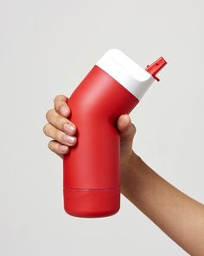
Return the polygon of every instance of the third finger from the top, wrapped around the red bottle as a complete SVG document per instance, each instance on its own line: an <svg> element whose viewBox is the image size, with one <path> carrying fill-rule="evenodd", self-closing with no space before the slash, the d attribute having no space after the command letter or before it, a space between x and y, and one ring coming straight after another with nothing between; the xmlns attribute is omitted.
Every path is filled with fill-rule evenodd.
<svg viewBox="0 0 204 256"><path fill-rule="evenodd" d="M61 130L55 128L51 123L47 123L44 126L43 132L45 135L60 142L62 145L73 146L77 141L76 137L65 134Z"/></svg>

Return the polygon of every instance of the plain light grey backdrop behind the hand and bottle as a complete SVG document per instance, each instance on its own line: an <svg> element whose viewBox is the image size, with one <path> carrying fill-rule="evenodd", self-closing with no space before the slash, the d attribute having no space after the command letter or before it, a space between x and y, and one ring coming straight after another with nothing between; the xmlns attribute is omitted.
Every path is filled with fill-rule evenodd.
<svg viewBox="0 0 204 256"><path fill-rule="evenodd" d="M63 211L62 161L45 114L107 49L169 62L131 113L134 150L196 200L203 194L203 1L0 1L0 252L187 255L122 196L109 218Z"/></svg>

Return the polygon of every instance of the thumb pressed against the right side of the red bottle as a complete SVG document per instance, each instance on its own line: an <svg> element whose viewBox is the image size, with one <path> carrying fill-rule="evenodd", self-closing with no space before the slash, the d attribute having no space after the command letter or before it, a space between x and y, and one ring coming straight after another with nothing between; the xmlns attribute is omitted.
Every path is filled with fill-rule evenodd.
<svg viewBox="0 0 204 256"><path fill-rule="evenodd" d="M130 144L132 144L132 140L134 138L134 135L136 134L137 129L135 125L131 123L131 118L129 115L125 114L119 116L117 121L117 128L120 133L121 143L129 142Z"/></svg>

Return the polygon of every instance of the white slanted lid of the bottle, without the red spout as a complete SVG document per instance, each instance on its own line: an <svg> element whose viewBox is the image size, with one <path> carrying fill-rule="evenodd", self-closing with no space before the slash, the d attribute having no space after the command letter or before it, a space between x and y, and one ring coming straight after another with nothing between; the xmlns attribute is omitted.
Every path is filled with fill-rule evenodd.
<svg viewBox="0 0 204 256"><path fill-rule="evenodd" d="M119 49L109 49L96 65L141 100L154 77Z"/></svg>

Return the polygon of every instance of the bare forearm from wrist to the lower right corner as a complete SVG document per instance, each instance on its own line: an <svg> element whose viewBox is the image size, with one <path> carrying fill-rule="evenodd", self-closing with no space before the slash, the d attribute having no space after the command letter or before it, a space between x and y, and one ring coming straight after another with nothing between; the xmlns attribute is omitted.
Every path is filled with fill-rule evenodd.
<svg viewBox="0 0 204 256"><path fill-rule="evenodd" d="M204 255L204 206L183 194L132 154L122 193L191 255Z"/></svg>

